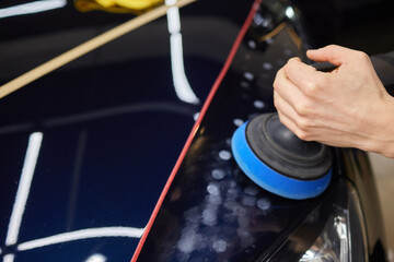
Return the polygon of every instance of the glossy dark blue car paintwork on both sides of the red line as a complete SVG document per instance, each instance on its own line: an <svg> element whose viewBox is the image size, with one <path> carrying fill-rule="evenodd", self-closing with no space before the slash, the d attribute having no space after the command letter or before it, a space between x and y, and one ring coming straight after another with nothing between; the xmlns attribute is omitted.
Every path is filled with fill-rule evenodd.
<svg viewBox="0 0 394 262"><path fill-rule="evenodd" d="M13 4L2 1L0 8ZM185 75L200 102L251 5L200 0L179 11ZM132 17L81 14L70 1L53 11L1 19L0 83ZM264 259L345 174L336 160L325 194L290 201L257 188L232 159L235 128L255 114L274 111L276 70L288 58L303 56L289 24L271 39L258 40L283 20L283 13L266 8L254 19L139 261ZM179 99L171 47L167 19L162 17L0 99L2 261L131 258L201 107ZM34 158L33 164L26 160ZM24 172L25 166L33 171ZM28 190L18 193L21 177L28 178L22 174L31 182L22 179ZM14 207L16 202L22 209Z"/></svg>

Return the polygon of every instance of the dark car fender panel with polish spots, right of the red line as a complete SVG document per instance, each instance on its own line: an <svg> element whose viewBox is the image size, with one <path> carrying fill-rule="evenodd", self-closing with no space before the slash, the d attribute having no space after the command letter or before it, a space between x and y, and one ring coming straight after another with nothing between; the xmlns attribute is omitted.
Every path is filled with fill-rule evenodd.
<svg viewBox="0 0 394 262"><path fill-rule="evenodd" d="M255 23L269 15L262 9ZM280 22L277 20L276 25ZM230 147L232 133L256 114L274 111L275 72L289 57L303 55L291 25L268 41L256 40L258 29L262 28L253 24L245 36L171 184L138 261L265 261L314 212L322 221L312 223L313 228L299 229L305 242L313 242L316 237L313 234L321 229L329 210L322 207L322 202L332 193L346 190L340 176L355 174L352 168L344 170L340 154L336 152L328 189L316 199L291 201L256 187L236 166ZM345 162L363 165L366 159ZM375 196L375 192L371 194ZM378 204L376 200L372 202ZM333 202L325 205L332 206ZM378 212L375 217L369 216L368 225L380 222ZM380 237L370 239L370 253L384 237L382 227L374 230ZM294 253L289 261L302 257L301 250L286 248ZM303 248L306 251L308 245ZM384 254L372 258L384 261Z"/></svg>

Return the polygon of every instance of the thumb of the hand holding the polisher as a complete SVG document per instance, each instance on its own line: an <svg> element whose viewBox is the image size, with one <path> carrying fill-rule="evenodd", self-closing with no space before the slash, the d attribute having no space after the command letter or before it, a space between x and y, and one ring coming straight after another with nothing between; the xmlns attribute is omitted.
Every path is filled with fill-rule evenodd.
<svg viewBox="0 0 394 262"><path fill-rule="evenodd" d="M355 51L346 47L329 45L316 50L308 50L306 56L316 62L331 62L335 66L340 66L346 61L349 53Z"/></svg>

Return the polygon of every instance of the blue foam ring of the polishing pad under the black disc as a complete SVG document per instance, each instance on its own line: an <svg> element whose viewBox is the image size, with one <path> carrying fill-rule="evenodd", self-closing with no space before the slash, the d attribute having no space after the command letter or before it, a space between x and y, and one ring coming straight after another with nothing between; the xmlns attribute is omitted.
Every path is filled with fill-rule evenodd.
<svg viewBox="0 0 394 262"><path fill-rule="evenodd" d="M293 200L317 196L328 187L332 168L316 179L297 179L267 166L251 148L246 139L246 126L247 122L234 132L231 142L232 152L240 168L259 187Z"/></svg>

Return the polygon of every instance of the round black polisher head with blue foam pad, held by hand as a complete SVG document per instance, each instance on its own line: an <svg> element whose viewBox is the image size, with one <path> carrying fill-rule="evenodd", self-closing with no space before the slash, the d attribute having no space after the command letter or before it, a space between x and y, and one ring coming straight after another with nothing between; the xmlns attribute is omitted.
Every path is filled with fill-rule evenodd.
<svg viewBox="0 0 394 262"><path fill-rule="evenodd" d="M331 63L312 64L329 72ZM277 195L303 200L320 195L332 177L329 147L300 140L278 114L263 114L237 128L231 142L235 162L244 174Z"/></svg>

